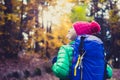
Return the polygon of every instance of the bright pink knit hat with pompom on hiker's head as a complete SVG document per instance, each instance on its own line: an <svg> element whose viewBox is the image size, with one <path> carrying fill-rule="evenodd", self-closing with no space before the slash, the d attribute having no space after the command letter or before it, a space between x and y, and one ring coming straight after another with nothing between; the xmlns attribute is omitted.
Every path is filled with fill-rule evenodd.
<svg viewBox="0 0 120 80"><path fill-rule="evenodd" d="M77 35L82 35L82 34L95 34L100 32L101 28L100 25L92 21L91 23L89 22L75 22L73 24L73 27L77 33Z"/></svg>

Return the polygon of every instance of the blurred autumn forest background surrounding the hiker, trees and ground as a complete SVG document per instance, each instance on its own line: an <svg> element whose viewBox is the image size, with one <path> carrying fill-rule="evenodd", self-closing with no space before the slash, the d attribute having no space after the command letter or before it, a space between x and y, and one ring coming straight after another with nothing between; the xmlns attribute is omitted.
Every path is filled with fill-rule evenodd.
<svg viewBox="0 0 120 80"><path fill-rule="evenodd" d="M0 79L58 80L50 63L69 42L72 23L93 20L101 25L96 36L114 69L111 80L120 80L120 0L0 0ZM36 72L52 79L33 79Z"/></svg>

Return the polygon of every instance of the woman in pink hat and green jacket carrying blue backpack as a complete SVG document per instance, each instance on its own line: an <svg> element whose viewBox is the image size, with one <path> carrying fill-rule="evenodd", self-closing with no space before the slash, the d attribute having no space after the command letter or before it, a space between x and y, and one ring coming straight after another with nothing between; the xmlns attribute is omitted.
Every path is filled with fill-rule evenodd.
<svg viewBox="0 0 120 80"><path fill-rule="evenodd" d="M53 64L54 74L61 80L103 80L105 61L103 42L93 36L100 32L100 25L93 22L75 22L67 38L72 40L58 51L57 61ZM84 36L84 56L81 57L79 46Z"/></svg>

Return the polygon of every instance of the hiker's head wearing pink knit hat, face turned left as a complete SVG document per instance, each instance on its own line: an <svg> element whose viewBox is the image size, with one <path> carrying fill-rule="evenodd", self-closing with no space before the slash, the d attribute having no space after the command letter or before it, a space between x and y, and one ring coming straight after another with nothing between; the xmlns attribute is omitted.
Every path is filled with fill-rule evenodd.
<svg viewBox="0 0 120 80"><path fill-rule="evenodd" d="M101 28L100 25L95 22L75 22L73 23L73 28L69 30L67 38L70 40L74 40L76 36L83 35L83 34L96 34L100 32Z"/></svg>

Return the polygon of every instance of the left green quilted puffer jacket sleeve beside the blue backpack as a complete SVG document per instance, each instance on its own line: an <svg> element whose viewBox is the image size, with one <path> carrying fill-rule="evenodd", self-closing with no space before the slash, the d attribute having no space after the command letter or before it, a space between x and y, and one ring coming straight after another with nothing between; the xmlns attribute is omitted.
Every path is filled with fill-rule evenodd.
<svg viewBox="0 0 120 80"><path fill-rule="evenodd" d="M64 78L69 75L72 53L73 48L70 45L63 45L60 47L57 61L52 66L52 71L57 77Z"/></svg>

